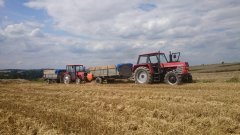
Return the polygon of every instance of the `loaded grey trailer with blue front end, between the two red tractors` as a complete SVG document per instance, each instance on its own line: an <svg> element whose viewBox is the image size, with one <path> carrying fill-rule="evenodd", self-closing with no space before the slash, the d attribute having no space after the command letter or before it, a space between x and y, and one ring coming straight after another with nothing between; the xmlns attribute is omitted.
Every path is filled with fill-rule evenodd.
<svg viewBox="0 0 240 135"><path fill-rule="evenodd" d="M115 79L128 79L132 76L131 63L121 63L117 65L90 67L89 71L96 80L96 83L114 81Z"/></svg>

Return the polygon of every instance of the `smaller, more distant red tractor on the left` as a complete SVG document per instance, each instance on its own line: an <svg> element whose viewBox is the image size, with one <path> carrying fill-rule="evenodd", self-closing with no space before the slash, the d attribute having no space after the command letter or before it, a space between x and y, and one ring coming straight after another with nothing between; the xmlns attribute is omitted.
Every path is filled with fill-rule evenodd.
<svg viewBox="0 0 240 135"><path fill-rule="evenodd" d="M80 84L81 82L92 81L92 78L92 74L87 73L83 65L67 65L63 82L65 84L69 84L71 82Z"/></svg>

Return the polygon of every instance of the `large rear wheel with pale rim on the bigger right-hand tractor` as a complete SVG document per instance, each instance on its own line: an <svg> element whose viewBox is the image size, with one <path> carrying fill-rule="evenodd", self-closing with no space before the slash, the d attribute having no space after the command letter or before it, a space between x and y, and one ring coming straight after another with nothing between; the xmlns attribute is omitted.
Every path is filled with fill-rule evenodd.
<svg viewBox="0 0 240 135"><path fill-rule="evenodd" d="M134 77L137 84L152 83L152 75L147 67L138 67L134 72Z"/></svg>

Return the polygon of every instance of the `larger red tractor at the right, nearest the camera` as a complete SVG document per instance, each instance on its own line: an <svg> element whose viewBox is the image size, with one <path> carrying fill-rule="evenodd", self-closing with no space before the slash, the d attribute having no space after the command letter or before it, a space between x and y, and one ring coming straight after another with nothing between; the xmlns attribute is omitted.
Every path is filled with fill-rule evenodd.
<svg viewBox="0 0 240 135"><path fill-rule="evenodd" d="M139 55L137 64L133 67L135 83L147 84L164 81L176 85L182 82L192 82L192 75L188 72L188 62L180 62L179 57L180 52L170 52L169 60L161 52Z"/></svg>

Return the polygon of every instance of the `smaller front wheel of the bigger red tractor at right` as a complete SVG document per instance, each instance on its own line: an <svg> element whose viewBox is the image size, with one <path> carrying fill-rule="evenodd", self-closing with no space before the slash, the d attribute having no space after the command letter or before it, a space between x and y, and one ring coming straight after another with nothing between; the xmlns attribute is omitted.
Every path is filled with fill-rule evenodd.
<svg viewBox="0 0 240 135"><path fill-rule="evenodd" d="M182 78L177 73L170 71L165 75L164 82L170 85L178 85L182 82Z"/></svg>

